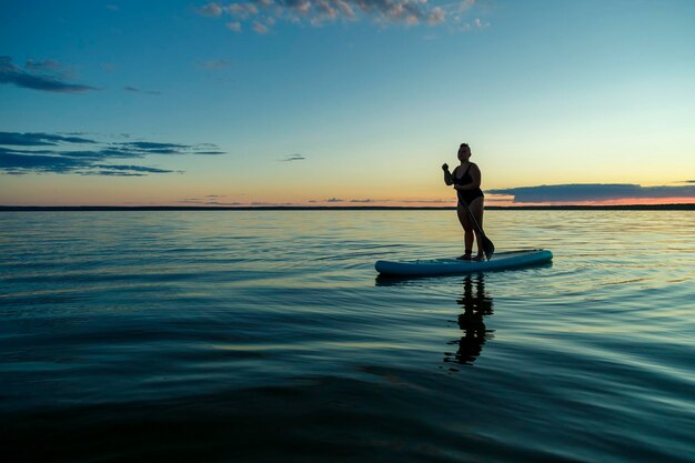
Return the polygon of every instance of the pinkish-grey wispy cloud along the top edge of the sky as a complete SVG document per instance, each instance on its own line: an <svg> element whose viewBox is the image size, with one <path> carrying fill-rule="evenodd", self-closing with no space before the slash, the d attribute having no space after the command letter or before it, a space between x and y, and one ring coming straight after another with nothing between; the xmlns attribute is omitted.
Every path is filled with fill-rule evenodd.
<svg viewBox="0 0 695 463"><path fill-rule="evenodd" d="M370 19L376 24L404 26L450 23L454 30L483 29L490 23L480 19L465 21L466 12L475 0L459 0L430 4L427 0L250 0L231 3L210 2L200 6L200 16L230 17L226 27L241 32L242 24L250 23L256 33L266 33L275 21L306 23L321 27L336 21Z"/></svg>

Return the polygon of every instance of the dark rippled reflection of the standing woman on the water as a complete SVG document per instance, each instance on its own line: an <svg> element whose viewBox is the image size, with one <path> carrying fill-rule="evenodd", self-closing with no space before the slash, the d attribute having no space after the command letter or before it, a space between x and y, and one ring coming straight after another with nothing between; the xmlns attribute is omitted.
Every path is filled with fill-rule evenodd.
<svg viewBox="0 0 695 463"><path fill-rule="evenodd" d="M456 300L463 312L456 320L463 332L461 339L447 342L456 345L456 352L444 352L444 362L472 365L483 351L483 345L494 336L494 330L487 330L484 318L492 315L492 298L485 293L485 275L466 275L463 280L463 294ZM457 371L456 368L450 368Z"/></svg>

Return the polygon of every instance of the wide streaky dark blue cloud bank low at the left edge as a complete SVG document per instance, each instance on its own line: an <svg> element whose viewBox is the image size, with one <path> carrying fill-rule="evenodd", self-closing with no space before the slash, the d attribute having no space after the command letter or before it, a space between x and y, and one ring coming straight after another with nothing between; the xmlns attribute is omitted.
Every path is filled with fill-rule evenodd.
<svg viewBox="0 0 695 463"><path fill-rule="evenodd" d="M75 144L80 145L80 149L75 150ZM212 143L104 142L53 133L0 132L0 174L74 173L142 177L153 173L182 173L148 165L109 162L152 155L218 154L224 152Z"/></svg>

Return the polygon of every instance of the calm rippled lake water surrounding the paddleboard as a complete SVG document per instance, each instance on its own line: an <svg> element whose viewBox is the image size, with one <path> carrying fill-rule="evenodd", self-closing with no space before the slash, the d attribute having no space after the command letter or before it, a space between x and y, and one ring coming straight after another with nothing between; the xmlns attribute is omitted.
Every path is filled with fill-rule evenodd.
<svg viewBox="0 0 695 463"><path fill-rule="evenodd" d="M0 213L3 461L692 462L695 213Z"/></svg>

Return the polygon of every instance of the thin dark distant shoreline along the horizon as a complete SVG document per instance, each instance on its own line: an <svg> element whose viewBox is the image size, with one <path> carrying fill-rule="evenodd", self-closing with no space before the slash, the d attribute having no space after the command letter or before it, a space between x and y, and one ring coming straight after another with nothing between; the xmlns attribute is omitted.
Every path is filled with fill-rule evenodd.
<svg viewBox="0 0 695 463"><path fill-rule="evenodd" d="M454 207L391 205L0 205L0 212L59 211L451 211ZM625 204L625 205L488 205L488 211L695 211L695 204Z"/></svg>

